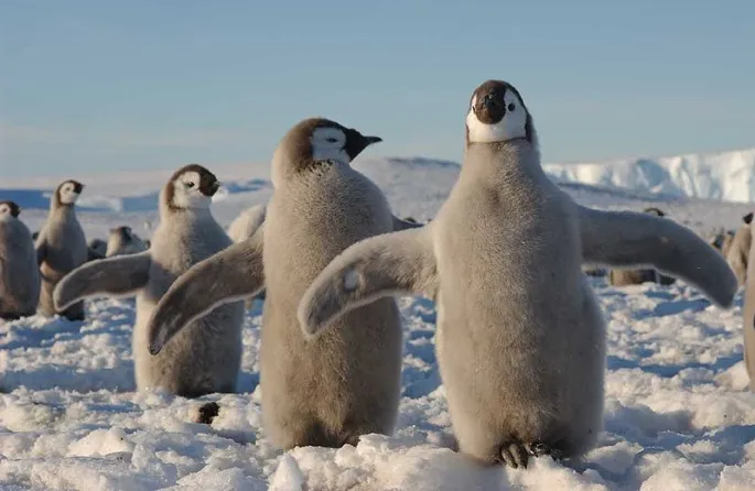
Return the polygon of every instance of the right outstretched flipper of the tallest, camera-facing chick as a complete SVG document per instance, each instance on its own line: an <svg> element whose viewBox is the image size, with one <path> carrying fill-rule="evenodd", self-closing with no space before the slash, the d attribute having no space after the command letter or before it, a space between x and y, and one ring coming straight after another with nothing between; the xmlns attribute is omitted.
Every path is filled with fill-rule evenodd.
<svg viewBox="0 0 755 491"><path fill-rule="evenodd" d="M700 288L730 307L737 281L726 261L692 230L668 218L578 206L582 260L608 266L649 266Z"/></svg>

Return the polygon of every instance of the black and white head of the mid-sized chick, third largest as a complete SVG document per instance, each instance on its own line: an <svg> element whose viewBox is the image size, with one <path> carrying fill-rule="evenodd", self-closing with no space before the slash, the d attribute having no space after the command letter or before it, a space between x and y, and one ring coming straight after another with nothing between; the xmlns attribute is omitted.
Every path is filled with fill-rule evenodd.
<svg viewBox="0 0 755 491"><path fill-rule="evenodd" d="M219 187L215 174L202 165L184 165L169 179L164 200L173 210L207 209Z"/></svg>

